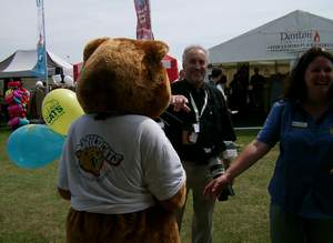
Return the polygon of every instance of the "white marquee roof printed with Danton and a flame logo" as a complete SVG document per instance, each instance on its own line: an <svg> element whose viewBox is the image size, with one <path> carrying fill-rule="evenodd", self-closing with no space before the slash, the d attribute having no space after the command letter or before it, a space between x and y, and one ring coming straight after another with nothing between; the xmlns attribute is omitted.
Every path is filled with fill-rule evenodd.
<svg viewBox="0 0 333 243"><path fill-rule="evenodd" d="M294 60L315 44L333 51L333 20L296 10L209 52L212 63Z"/></svg>

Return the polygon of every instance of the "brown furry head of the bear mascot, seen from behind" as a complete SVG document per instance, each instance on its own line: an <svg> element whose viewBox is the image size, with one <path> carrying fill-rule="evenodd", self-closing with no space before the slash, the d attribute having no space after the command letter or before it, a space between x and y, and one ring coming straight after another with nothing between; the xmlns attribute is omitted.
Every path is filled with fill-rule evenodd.
<svg viewBox="0 0 333 243"><path fill-rule="evenodd" d="M159 117L170 102L161 41L101 38L83 52L77 95L85 113Z"/></svg>

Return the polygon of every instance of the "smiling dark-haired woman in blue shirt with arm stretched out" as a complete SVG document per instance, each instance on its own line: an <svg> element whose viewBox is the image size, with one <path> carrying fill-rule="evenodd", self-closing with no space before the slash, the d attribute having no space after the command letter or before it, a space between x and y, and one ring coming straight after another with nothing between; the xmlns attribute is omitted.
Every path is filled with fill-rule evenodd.
<svg viewBox="0 0 333 243"><path fill-rule="evenodd" d="M204 189L218 192L280 141L270 182L273 243L333 242L333 55L307 50L292 70L258 138Z"/></svg>

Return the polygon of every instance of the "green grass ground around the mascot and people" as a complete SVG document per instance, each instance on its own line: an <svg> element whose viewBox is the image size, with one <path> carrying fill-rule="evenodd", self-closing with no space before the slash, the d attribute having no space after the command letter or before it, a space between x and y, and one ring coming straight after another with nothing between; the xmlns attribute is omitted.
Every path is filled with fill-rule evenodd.
<svg viewBox="0 0 333 243"><path fill-rule="evenodd" d="M56 190L58 162L38 170L24 170L9 161L6 141L10 132L0 130L0 243L64 242L69 202ZM238 132L245 145L254 131ZM269 195L276 149L235 180L235 196L218 202L214 213L215 243L268 243ZM191 200L182 226L182 242L190 243Z"/></svg>

